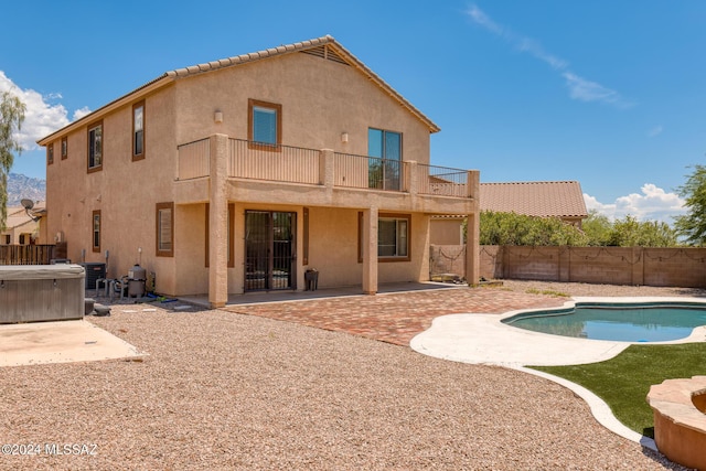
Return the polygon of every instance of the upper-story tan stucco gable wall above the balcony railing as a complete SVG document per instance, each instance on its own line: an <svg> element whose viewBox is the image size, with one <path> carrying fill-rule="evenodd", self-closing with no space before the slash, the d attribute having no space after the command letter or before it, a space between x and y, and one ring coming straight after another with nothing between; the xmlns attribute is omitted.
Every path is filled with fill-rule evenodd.
<svg viewBox="0 0 706 471"><path fill-rule="evenodd" d="M274 82L272 78L276 78ZM176 81L180 143L214 132L247 139L248 98L282 106L282 143L367 154L367 130L403 133L405 160L429 163L429 130L355 68L295 53ZM214 124L215 110L223 122ZM349 142L341 142L341 133Z"/></svg>

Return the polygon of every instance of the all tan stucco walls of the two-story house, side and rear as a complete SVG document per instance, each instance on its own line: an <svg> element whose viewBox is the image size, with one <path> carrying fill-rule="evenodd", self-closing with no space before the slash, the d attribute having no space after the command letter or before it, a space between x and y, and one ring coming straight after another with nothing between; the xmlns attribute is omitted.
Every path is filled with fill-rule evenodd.
<svg viewBox="0 0 706 471"><path fill-rule="evenodd" d="M60 233L74 261L105 261L108 277L127 275L140 263L154 272L157 290L170 296L208 291L205 267L205 203L210 180L176 181L178 146L214 133L247 139L248 98L282 106L282 143L311 149L367 154L368 128L403 135L403 158L429 163L428 127L354 67L295 53L217 72L180 78L147 97L110 111L103 119L103 170L87 173L87 127L68 133L68 159L62 160L61 137L54 141L54 163L47 165L47 232ZM146 159L131 159L132 104L146 99ZM223 122L214 122L214 111ZM87 121L87 124L94 120ZM349 142L341 142L347 132ZM375 206L381 212L414 213L413 261L378 264L379 282L428 278L428 224L425 201L406 193L367 190L328 190L318 185L286 185L265 191L261 182L229 181L227 199L236 204L235 264L227 269L228 292L244 287L245 210L292 211L298 221L298 288L303 271L320 270L320 288L361 285L357 261L357 213ZM296 195L299 200L291 200ZM302 196L303 195L303 196ZM418 202L417 202L418 201ZM460 199L447 200L449 211L463 211ZM447 204L447 201L443 203ZM156 204L174 202L174 256L156 256ZM282 204L289 202L289 204ZM302 265L303 205L310 207L309 266ZM329 206L329 207L324 207ZM346 206L347 208L335 208ZM411 210L414 207L414 210ZM92 214L100 211L100 251L92 250ZM141 248L141 253L139 253Z"/></svg>

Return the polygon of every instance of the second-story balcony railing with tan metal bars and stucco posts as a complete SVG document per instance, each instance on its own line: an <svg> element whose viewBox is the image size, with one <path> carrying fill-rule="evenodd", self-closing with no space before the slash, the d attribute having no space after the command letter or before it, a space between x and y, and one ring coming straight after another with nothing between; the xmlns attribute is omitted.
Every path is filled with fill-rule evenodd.
<svg viewBox="0 0 706 471"><path fill-rule="evenodd" d="M179 146L179 181L211 176L215 142L211 137ZM319 185L336 191L364 190L466 201L472 201L478 191L477 171L414 161L386 160L328 149L270 146L233 138L227 138L221 153L226 156L225 173L229 181Z"/></svg>

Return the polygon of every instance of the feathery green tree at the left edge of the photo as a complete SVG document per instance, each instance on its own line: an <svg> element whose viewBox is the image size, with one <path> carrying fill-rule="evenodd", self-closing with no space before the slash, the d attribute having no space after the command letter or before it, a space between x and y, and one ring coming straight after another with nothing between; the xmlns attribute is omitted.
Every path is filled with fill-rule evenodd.
<svg viewBox="0 0 706 471"><path fill-rule="evenodd" d="M0 95L0 228L4 229L8 218L8 174L14 161L13 152L22 152L22 146L14 131L22 128L26 107L15 95L3 92Z"/></svg>

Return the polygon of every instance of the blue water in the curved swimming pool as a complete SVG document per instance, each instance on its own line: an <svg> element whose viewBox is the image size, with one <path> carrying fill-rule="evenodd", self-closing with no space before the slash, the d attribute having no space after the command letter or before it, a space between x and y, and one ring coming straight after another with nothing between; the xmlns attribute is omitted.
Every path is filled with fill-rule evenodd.
<svg viewBox="0 0 706 471"><path fill-rule="evenodd" d="M684 339L706 325L700 303L577 303L576 308L535 311L504 323L555 335L621 342L664 342Z"/></svg>

